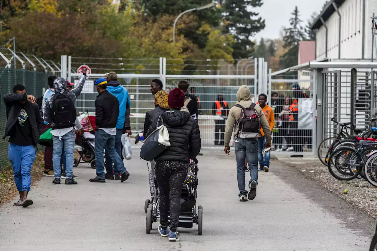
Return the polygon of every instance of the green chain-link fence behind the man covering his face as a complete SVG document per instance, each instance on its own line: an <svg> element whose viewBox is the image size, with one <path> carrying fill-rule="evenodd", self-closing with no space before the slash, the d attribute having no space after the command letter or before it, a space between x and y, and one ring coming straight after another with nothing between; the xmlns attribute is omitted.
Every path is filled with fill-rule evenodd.
<svg viewBox="0 0 377 251"><path fill-rule="evenodd" d="M13 92L16 84L24 85L26 92L36 98L43 96L43 91L48 87L48 74L20 69L0 68L0 93L3 97L7 93ZM1 100L0 102L0 132L3 137L6 125L6 107ZM11 168L8 164L8 139L0 141L0 170Z"/></svg>

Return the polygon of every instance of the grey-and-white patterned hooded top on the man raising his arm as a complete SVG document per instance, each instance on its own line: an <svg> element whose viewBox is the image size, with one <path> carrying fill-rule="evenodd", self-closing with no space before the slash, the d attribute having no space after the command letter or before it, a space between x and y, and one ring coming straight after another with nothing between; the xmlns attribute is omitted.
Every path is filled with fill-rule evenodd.
<svg viewBox="0 0 377 251"><path fill-rule="evenodd" d="M86 81L86 75L81 76L75 88L67 92L67 97L69 97L73 103L76 102L76 98L80 95L81 91L83 90L84 83ZM63 93L67 90L67 81L62 78L58 77L54 80L54 89L55 94ZM54 94L54 95L55 95ZM54 121L52 121L51 112L52 112L52 102L54 101L54 95L50 96L47 101L46 105L43 108L43 119L46 120L51 126L54 126ZM75 120L75 126L77 129L81 129L82 126L78 119ZM51 134L57 137L62 137L63 135L67 134L72 128L64 128L64 129L55 129L51 131Z"/></svg>

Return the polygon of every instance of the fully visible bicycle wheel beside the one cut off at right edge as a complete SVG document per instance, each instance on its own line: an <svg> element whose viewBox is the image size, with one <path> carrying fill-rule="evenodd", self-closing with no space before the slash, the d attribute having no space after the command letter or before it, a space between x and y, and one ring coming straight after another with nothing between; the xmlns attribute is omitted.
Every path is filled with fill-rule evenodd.
<svg viewBox="0 0 377 251"><path fill-rule="evenodd" d="M327 167L337 180L352 180L362 171L363 159L356 149L344 146L330 155Z"/></svg>

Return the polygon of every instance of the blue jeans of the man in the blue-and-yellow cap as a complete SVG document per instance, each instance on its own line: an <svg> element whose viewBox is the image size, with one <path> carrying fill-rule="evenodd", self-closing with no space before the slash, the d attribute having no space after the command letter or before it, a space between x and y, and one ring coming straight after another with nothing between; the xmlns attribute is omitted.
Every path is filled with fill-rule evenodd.
<svg viewBox="0 0 377 251"><path fill-rule="evenodd" d="M120 173L126 172L126 167L124 167L123 161L118 153L115 151L115 135L107 134L104 130L99 129L95 132L95 168L97 177L105 178L105 169L103 167L103 151L107 149L109 155L114 161L115 166L118 168Z"/></svg>

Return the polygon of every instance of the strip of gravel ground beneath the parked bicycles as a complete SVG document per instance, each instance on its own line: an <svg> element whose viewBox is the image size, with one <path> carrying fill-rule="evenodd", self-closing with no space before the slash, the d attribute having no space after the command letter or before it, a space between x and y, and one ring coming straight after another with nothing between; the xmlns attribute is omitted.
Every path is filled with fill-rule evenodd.
<svg viewBox="0 0 377 251"><path fill-rule="evenodd" d="M377 218L377 188L372 188L368 181L357 178L351 181L337 180L320 162L290 165L369 216Z"/></svg>

